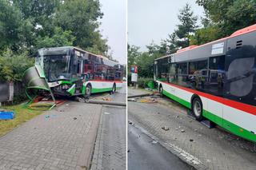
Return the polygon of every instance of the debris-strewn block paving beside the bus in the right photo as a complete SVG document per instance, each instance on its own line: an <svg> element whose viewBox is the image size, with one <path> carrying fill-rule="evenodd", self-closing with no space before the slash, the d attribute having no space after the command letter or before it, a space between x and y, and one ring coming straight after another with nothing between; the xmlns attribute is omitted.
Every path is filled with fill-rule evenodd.
<svg viewBox="0 0 256 170"><path fill-rule="evenodd" d="M194 156L206 169L256 169L256 153L251 142L219 128L206 128L187 117L186 109L170 101L168 104L166 107L128 102L128 119L138 122L163 144L178 147ZM164 126L169 130L162 129Z"/></svg>

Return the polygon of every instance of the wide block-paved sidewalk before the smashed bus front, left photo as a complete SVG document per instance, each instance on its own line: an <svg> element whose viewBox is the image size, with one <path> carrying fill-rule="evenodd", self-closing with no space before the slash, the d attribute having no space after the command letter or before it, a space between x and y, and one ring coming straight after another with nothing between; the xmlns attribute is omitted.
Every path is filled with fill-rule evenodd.
<svg viewBox="0 0 256 170"><path fill-rule="evenodd" d="M15 128L0 137L0 169L84 168L84 146L100 113L100 105L67 102Z"/></svg>

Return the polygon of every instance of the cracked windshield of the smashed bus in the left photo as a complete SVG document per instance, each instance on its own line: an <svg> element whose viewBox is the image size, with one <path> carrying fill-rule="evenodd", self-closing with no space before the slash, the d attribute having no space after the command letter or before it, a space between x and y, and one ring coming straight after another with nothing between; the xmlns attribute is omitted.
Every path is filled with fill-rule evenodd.
<svg viewBox="0 0 256 170"><path fill-rule="evenodd" d="M70 56L43 56L43 65L47 81L70 80Z"/></svg>

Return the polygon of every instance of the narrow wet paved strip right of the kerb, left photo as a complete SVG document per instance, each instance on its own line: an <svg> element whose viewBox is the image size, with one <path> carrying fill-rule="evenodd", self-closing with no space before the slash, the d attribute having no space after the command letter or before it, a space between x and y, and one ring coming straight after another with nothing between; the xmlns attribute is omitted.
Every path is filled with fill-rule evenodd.
<svg viewBox="0 0 256 170"><path fill-rule="evenodd" d="M91 170L126 169L126 108L104 106Z"/></svg>

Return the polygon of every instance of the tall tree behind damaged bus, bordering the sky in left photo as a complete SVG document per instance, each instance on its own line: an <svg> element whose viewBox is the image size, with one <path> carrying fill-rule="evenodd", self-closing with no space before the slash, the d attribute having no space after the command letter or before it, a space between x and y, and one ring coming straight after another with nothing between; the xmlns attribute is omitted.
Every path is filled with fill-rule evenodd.
<svg viewBox="0 0 256 170"><path fill-rule="evenodd" d="M98 18L102 18L102 15L98 1L65 1L56 12L55 22L63 30L72 31L75 46L104 54L108 46L98 31Z"/></svg>

